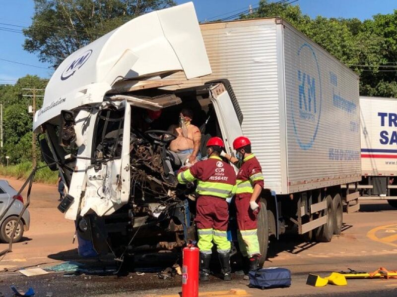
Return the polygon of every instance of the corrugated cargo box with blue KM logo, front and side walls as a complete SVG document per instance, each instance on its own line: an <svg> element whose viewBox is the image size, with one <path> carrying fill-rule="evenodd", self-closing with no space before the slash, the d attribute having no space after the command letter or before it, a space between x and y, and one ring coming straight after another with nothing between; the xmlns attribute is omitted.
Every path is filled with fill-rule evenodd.
<svg viewBox="0 0 397 297"><path fill-rule="evenodd" d="M231 82L267 188L288 194L361 179L353 71L279 18L200 26L212 74L191 84Z"/></svg>

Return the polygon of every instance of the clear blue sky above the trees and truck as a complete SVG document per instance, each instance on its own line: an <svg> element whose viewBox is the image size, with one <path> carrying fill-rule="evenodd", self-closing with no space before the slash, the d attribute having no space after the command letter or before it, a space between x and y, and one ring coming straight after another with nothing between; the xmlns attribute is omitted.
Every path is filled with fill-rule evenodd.
<svg viewBox="0 0 397 297"><path fill-rule="evenodd" d="M188 0L175 0L178 4ZM270 0L275 1L275 0ZM193 0L199 21L227 17L244 9L257 7L259 0ZM396 0L297 0L304 14L312 18L325 17L370 19L373 15L393 13ZM37 55L23 49L22 27L31 24L34 14L33 0L0 0L0 84L15 83L27 74L50 78L53 69L39 61ZM11 63L5 60L22 64Z"/></svg>

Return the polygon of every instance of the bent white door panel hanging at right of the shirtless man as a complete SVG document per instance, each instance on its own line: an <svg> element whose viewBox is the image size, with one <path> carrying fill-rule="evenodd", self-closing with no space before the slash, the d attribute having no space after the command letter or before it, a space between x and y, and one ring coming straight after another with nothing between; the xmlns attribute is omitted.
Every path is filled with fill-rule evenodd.
<svg viewBox="0 0 397 297"><path fill-rule="evenodd" d="M213 84L209 92L218 119L219 128L222 132L226 152L234 155L233 140L243 135L240 126L242 118L239 119L237 116L231 94L226 90L223 83Z"/></svg>

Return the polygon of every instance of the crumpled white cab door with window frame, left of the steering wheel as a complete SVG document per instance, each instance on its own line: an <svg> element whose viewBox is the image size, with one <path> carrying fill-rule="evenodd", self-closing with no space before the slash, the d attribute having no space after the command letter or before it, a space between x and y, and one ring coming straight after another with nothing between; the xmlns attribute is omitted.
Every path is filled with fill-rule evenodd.
<svg viewBox="0 0 397 297"><path fill-rule="evenodd" d="M93 210L102 216L129 200L131 105L123 100L103 106L95 126L93 161L87 169L80 215Z"/></svg>

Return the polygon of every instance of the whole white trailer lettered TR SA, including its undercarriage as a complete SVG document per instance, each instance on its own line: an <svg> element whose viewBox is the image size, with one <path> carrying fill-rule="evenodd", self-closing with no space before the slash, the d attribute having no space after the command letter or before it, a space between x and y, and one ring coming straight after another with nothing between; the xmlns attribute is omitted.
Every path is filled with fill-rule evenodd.
<svg viewBox="0 0 397 297"><path fill-rule="evenodd" d="M397 207L397 99L360 97L360 199L387 199Z"/></svg>

